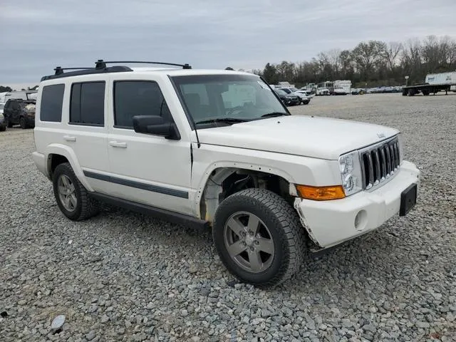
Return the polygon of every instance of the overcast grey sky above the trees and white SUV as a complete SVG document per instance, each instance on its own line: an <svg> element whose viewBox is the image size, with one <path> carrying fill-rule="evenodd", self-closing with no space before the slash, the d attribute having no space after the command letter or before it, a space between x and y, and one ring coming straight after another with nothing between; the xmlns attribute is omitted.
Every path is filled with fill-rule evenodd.
<svg viewBox="0 0 456 342"><path fill-rule="evenodd" d="M455 0L0 0L0 85L105 60L263 68L360 41L456 37Z"/></svg>

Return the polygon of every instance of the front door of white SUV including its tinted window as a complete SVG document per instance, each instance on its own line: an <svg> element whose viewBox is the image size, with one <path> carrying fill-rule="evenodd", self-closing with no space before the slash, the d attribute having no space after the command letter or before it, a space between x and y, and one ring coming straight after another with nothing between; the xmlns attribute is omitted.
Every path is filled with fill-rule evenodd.
<svg viewBox="0 0 456 342"><path fill-rule="evenodd" d="M190 141L136 133L133 116L173 120L158 81L112 81L108 133L110 195L152 207L192 214Z"/></svg>

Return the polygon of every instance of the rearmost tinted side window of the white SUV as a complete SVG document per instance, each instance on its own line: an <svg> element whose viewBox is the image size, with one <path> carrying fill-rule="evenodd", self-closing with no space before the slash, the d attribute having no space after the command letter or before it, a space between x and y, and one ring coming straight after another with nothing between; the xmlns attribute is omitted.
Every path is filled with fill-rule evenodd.
<svg viewBox="0 0 456 342"><path fill-rule="evenodd" d="M40 120L60 123L62 120L62 103L64 84L44 86L41 93Z"/></svg>

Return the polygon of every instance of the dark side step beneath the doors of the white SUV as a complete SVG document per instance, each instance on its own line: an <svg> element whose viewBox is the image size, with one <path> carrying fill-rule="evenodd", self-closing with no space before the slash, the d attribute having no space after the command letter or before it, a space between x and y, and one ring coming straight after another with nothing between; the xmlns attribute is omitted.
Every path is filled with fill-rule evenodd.
<svg viewBox="0 0 456 342"><path fill-rule="evenodd" d="M175 224L191 226L197 229L209 228L209 222L205 221L204 219L197 219L196 217L180 214L178 212L172 212L167 209L151 207L150 205L132 202L128 199L121 199L118 197L100 194L99 192L90 192L90 197L98 199L100 202L112 204L116 207L122 207L133 212L140 212L141 214L157 217L158 219L163 219Z"/></svg>

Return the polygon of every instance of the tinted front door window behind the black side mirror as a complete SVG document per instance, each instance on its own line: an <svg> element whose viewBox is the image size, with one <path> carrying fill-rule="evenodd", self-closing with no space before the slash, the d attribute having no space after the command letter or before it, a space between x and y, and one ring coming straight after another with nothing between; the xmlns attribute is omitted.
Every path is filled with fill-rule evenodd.
<svg viewBox="0 0 456 342"><path fill-rule="evenodd" d="M160 86L152 81L114 82L114 127L133 128L133 116L157 115L171 119Z"/></svg>

